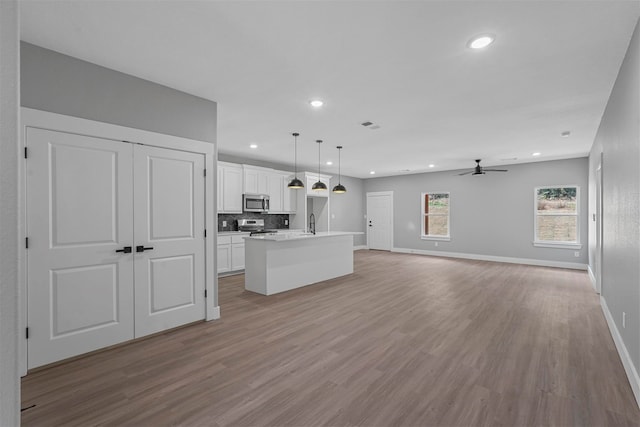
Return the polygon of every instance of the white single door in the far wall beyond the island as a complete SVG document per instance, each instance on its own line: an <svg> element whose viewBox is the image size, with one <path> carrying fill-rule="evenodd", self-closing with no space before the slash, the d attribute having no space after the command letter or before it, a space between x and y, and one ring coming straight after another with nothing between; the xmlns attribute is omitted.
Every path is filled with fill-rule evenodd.
<svg viewBox="0 0 640 427"><path fill-rule="evenodd" d="M393 193L367 193L367 244L390 251L393 241Z"/></svg>

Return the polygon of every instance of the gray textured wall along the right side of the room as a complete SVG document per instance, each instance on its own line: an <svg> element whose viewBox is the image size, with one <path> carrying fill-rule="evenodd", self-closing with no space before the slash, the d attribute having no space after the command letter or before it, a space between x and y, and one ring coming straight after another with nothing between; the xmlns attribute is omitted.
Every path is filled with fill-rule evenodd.
<svg viewBox="0 0 640 427"><path fill-rule="evenodd" d="M640 371L640 21L589 156L595 195L602 153L602 297ZM595 213L595 203L592 204ZM591 242L597 250L595 236ZM591 268L594 269L595 254ZM626 328L622 327L625 312Z"/></svg>

